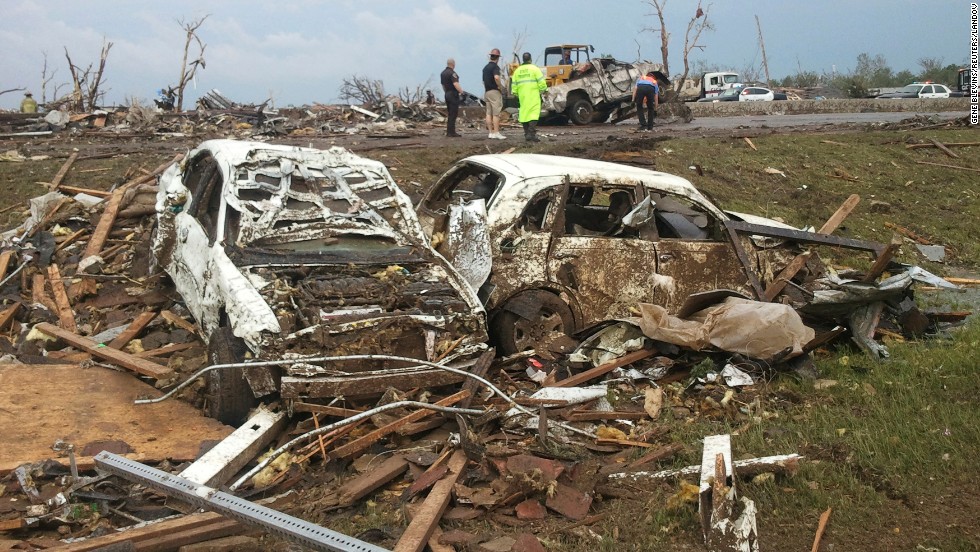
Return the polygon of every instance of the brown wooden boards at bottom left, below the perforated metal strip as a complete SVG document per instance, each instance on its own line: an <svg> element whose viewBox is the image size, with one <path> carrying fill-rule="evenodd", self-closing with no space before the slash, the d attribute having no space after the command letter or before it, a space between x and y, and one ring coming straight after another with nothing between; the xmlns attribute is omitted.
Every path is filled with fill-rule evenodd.
<svg viewBox="0 0 980 552"><path fill-rule="evenodd" d="M61 552L88 552L112 545L132 543L135 550L176 550L193 544L246 531L244 525L214 512L190 514L177 519L148 523L134 529L91 537L80 542L59 546Z"/></svg>

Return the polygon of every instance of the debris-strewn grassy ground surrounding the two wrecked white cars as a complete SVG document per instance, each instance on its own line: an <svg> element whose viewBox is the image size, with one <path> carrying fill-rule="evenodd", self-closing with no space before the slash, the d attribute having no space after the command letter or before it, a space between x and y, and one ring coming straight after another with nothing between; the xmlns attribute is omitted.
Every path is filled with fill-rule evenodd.
<svg viewBox="0 0 980 552"><path fill-rule="evenodd" d="M0 138L0 549L317 549L302 535L323 528L376 547L358 549L434 552L980 549L976 128L546 126L528 146L477 139L479 116L452 140L408 114L284 117L272 132L226 111ZM798 269L812 255L871 283L903 266L935 278L901 308L821 328L799 356L653 339L638 305L634 324L591 339L485 354L472 372L486 381L273 396L233 434L201 415L206 385L189 378L208 347L151 253L158 175L218 137L341 146L384 163L413 200L459 159L510 150L680 175L726 209L797 228L849 205L831 232L880 253L816 244ZM318 277L290 274L277 291ZM381 339L366 349L394 349ZM215 460L236 436L248 445Z"/></svg>

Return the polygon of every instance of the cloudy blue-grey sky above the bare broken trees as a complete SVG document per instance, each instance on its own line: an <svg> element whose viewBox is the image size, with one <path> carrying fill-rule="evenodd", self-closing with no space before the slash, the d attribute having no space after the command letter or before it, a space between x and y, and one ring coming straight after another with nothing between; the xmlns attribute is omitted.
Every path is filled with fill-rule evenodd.
<svg viewBox="0 0 980 552"><path fill-rule="evenodd" d="M697 2L666 0L666 6L676 74ZM703 50L692 61L719 68L761 68L756 15L773 78L800 69L848 72L862 52L914 73L922 58L964 66L969 60L970 3L963 0L715 0L704 6L715 30L702 35ZM354 74L383 80L389 93L427 83L441 98L438 76L450 56L463 88L482 95L487 52L500 48L508 58L518 36L520 49L537 62L545 46L562 42L659 62L660 37L644 30L659 27L652 13L641 0L0 0L0 90L27 87L40 100L47 54L49 73L55 72L51 99L54 86L70 80L65 49L85 67L97 64L105 39L113 43L106 103L148 102L178 79L179 21L209 15L199 31L207 66L189 89L190 100L216 88L239 103L269 97L278 107L333 103L342 79ZM21 98L0 95L0 107L16 107Z"/></svg>

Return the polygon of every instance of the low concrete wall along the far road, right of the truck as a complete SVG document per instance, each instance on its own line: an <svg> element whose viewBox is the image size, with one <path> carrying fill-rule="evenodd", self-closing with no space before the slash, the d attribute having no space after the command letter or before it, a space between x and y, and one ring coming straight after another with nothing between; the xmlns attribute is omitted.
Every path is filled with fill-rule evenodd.
<svg viewBox="0 0 980 552"><path fill-rule="evenodd" d="M876 111L969 111L970 98L787 100L778 102L688 102L695 117L795 115L804 113L873 113Z"/></svg>

